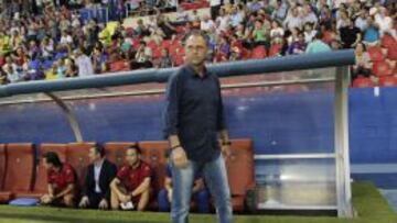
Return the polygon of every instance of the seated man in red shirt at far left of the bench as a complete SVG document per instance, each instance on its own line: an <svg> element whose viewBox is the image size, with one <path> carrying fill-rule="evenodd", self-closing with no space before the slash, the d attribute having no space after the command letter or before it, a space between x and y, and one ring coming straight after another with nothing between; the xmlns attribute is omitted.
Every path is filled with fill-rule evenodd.
<svg viewBox="0 0 397 223"><path fill-rule="evenodd" d="M44 154L43 161L47 169L49 193L41 198L41 203L74 207L77 194L77 177L74 168L68 164L62 164L54 152Z"/></svg>

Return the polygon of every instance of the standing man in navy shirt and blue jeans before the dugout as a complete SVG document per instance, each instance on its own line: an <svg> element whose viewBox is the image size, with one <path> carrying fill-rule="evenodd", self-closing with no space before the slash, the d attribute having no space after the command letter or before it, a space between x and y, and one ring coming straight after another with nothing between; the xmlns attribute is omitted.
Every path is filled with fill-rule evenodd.
<svg viewBox="0 0 397 223"><path fill-rule="evenodd" d="M224 156L229 155L221 85L204 66L206 36L193 31L185 42L186 59L169 80L164 134L171 146L173 223L187 223L194 175L205 179L219 223L230 223L233 211ZM221 144L218 143L221 137Z"/></svg>

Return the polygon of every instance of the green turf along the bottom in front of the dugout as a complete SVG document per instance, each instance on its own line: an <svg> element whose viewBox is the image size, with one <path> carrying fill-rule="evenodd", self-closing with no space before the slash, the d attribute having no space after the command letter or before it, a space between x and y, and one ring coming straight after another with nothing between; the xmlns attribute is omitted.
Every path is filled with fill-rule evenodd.
<svg viewBox="0 0 397 223"><path fill-rule="evenodd" d="M235 223L397 223L397 214L371 182L353 183L353 204L356 212L354 219L337 219L333 216L235 215ZM170 219L168 213L155 212L138 213L0 205L0 222L159 223L170 222ZM216 216L214 214L192 214L190 222L212 223L216 222Z"/></svg>

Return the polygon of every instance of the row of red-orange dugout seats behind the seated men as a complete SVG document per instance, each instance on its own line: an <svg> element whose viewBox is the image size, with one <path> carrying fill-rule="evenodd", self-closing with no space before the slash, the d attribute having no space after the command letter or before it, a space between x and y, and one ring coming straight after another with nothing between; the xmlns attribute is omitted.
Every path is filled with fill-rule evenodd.
<svg viewBox="0 0 397 223"><path fill-rule="evenodd" d="M233 208L237 212L245 211L246 194L255 187L254 152L250 140L233 140L232 156L226 161L232 191ZM133 142L106 143L106 156L118 167L124 164L125 149ZM153 189L163 187L165 175L165 141L139 142L142 159L154 170ZM71 164L78 175L79 183L84 183L88 150L95 143L41 144L40 154L56 152L62 161ZM42 161L35 165L35 147L30 143L0 144L0 203L15 198L40 198L47 191L46 172ZM39 160L39 159L37 159ZM155 207L155 201L150 207Z"/></svg>

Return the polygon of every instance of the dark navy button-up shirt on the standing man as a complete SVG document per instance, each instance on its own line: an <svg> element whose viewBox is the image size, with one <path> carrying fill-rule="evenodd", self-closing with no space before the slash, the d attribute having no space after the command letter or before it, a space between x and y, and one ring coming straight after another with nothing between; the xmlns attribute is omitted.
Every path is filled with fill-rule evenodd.
<svg viewBox="0 0 397 223"><path fill-rule="evenodd" d="M178 135L191 160L217 158L217 134L226 127L217 76L205 70L202 78L191 66L183 66L169 79L165 97L165 137Z"/></svg>

